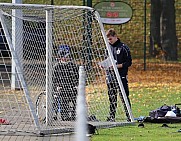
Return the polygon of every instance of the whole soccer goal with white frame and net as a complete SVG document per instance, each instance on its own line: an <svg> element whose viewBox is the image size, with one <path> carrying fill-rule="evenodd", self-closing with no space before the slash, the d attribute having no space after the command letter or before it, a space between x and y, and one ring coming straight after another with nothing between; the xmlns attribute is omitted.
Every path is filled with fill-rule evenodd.
<svg viewBox="0 0 181 141"><path fill-rule="evenodd" d="M77 90L72 85L75 80L68 81L74 77L75 68L69 66L63 70L67 81L60 79L61 87L55 90L53 84L61 46L70 48L69 61L85 69L87 122L97 128L133 123L103 25L93 8L0 3L0 36L1 133L74 131L76 119L68 118L75 110L75 101L63 101L70 100L70 95ZM114 122L106 121L109 115L106 72L99 66L107 57L106 50L121 89ZM66 110L68 117L64 118L62 111ZM131 121L127 121L126 115Z"/></svg>

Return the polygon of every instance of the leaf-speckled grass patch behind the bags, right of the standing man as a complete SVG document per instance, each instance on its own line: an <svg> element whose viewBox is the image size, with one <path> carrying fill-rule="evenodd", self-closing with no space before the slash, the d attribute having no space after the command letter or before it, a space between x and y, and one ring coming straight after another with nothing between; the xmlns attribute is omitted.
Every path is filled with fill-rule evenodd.
<svg viewBox="0 0 181 141"><path fill-rule="evenodd" d="M156 109L163 104L174 105L175 103L181 103L180 89L181 86L131 89L130 99L134 116L148 116L150 110Z"/></svg>

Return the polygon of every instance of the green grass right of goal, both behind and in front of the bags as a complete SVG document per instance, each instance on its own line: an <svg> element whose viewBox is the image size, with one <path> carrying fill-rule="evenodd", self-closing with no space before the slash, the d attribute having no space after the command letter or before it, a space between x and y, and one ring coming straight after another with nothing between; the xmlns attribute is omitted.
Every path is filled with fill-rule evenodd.
<svg viewBox="0 0 181 141"><path fill-rule="evenodd" d="M142 88L135 88L131 84L130 99L134 117L148 116L150 110L154 110L163 104L173 105L181 103L181 86L167 86L158 84L152 87L141 85ZM134 126L116 127L110 129L99 129L99 134L93 135L91 141L177 141L181 139L181 123L167 124L169 127L162 127L162 124L144 123L145 127L138 127L135 121Z"/></svg>

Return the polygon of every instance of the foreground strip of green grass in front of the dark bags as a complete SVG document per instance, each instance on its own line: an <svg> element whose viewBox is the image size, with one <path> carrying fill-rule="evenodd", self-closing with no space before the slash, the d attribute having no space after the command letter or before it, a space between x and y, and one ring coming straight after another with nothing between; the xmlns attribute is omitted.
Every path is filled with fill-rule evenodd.
<svg viewBox="0 0 181 141"><path fill-rule="evenodd" d="M181 133L177 132L180 124L169 124L169 127L161 127L162 124L145 124L144 128L137 126L125 126L99 130L99 134L93 135L91 141L179 141Z"/></svg>

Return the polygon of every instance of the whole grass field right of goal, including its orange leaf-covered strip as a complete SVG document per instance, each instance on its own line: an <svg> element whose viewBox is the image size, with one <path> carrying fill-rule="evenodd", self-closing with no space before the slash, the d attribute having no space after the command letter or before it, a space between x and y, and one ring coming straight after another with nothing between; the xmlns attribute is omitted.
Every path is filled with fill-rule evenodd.
<svg viewBox="0 0 181 141"><path fill-rule="evenodd" d="M134 117L148 116L149 111L163 104L181 103L181 65L179 63L142 64L134 62L129 71L130 99ZM180 107L181 108L181 107ZM177 141L181 139L181 123L144 123L135 126L101 129L92 141Z"/></svg>

